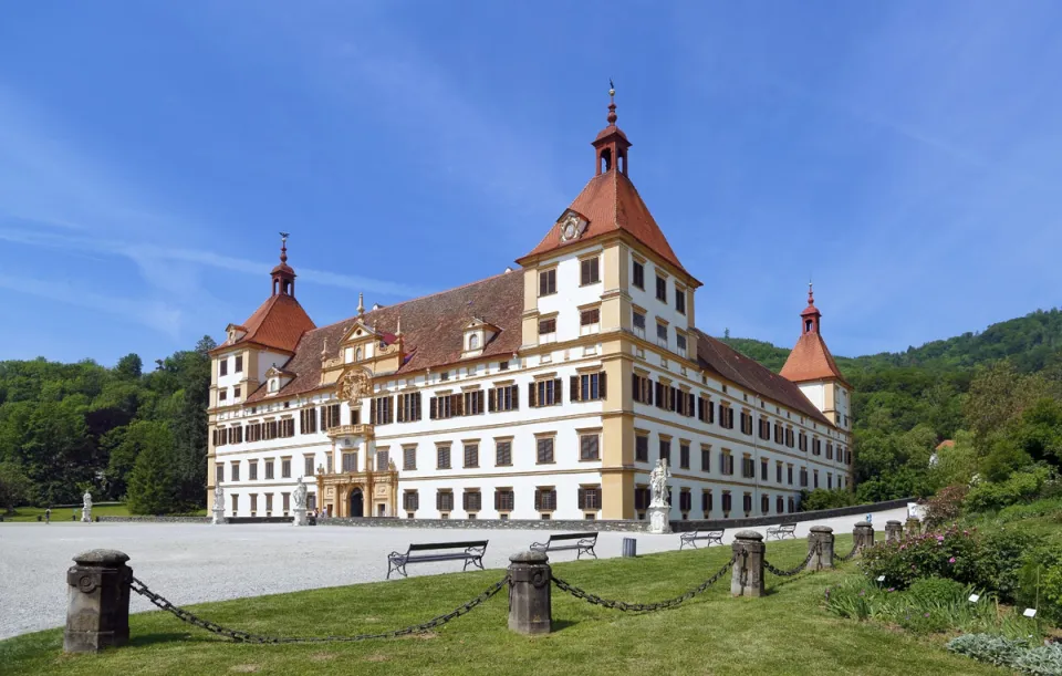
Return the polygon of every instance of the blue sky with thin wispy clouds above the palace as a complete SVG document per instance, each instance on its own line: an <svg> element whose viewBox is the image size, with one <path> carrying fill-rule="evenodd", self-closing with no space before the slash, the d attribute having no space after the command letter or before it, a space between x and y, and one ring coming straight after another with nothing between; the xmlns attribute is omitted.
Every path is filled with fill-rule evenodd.
<svg viewBox="0 0 1062 676"><path fill-rule="evenodd" d="M701 329L837 354L1059 304L1062 4L43 2L0 9L0 358L146 362L269 293L323 325L502 271L631 177Z"/></svg>

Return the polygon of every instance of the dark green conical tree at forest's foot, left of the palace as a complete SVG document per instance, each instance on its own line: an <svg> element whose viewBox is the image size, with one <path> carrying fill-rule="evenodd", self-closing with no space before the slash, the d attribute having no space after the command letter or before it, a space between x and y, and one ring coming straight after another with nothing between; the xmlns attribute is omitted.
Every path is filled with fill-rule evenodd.
<svg viewBox="0 0 1062 676"><path fill-rule="evenodd" d="M165 423L144 423L143 448L129 476L128 508L134 514L180 511L180 479L175 470L174 435Z"/></svg>

